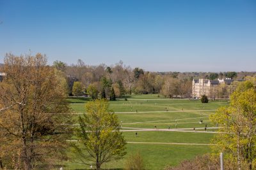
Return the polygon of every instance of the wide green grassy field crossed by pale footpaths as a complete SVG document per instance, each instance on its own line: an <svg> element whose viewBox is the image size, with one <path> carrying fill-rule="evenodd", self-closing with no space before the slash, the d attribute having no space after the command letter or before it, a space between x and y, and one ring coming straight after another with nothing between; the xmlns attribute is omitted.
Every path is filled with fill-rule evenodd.
<svg viewBox="0 0 256 170"><path fill-rule="evenodd" d="M75 120L78 114L86 112L84 104L89 100L90 98L87 97L68 99ZM182 160L193 159L196 155L210 152L209 145L200 144L209 144L214 135L209 131L216 130L207 129L209 133L197 131L204 131L205 125L214 127L209 122L209 115L220 106L227 104L228 101L209 101L207 104L202 104L199 100L166 99L157 95L131 96L127 97L127 101L124 99L110 101L109 106L118 115L123 129L138 129L138 136L134 135L134 131L123 132L128 142L127 155L117 162L104 164L102 168L123 169L125 159L137 151L145 160L147 169L164 169L167 165L177 166ZM200 120L203 120L202 124L199 124ZM202 129L193 131L194 127ZM182 128L188 129L184 129L185 132L178 131ZM140 129L152 129L152 131L139 131ZM65 169L89 169L90 166L77 163L71 152L68 154L71 159L63 162Z"/></svg>

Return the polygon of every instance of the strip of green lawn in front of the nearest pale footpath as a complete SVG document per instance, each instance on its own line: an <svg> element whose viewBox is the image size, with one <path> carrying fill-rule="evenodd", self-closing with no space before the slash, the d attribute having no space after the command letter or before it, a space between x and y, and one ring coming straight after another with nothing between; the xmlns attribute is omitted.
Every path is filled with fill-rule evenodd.
<svg viewBox="0 0 256 170"><path fill-rule="evenodd" d="M140 152L146 165L146 169L159 170L167 165L177 166L179 162L193 159L196 155L202 155L210 151L209 146L194 145L152 145L152 144L127 144L127 155L124 159L103 164L103 169L124 169L125 160L129 155ZM74 160L73 160L74 161ZM64 169L90 169L90 166L68 160L63 162Z"/></svg>

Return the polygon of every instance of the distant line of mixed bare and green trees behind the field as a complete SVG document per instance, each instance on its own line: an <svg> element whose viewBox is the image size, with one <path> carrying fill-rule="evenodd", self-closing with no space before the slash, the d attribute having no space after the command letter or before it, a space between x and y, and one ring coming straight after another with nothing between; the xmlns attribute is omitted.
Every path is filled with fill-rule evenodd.
<svg viewBox="0 0 256 170"><path fill-rule="evenodd" d="M105 64L88 66L80 59L77 64L71 64L70 66L56 60L53 66L65 74L70 95L88 94L93 99L98 97L113 99L113 95L122 97L125 94L162 94L165 97L190 97L193 78L207 78L210 80L218 78L241 79L255 75L251 72L148 72L140 67L133 69L130 66L125 66L122 61L113 66L106 66ZM76 81L80 83L74 83ZM224 91L219 92L219 94L223 94L222 96L229 95L225 92L227 87L221 88Z"/></svg>

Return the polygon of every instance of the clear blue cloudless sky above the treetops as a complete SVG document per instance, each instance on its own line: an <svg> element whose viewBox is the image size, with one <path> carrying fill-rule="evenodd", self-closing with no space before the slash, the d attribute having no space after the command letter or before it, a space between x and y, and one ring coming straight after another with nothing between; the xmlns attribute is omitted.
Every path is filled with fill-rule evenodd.
<svg viewBox="0 0 256 170"><path fill-rule="evenodd" d="M29 50L49 64L256 71L256 1L0 0L0 62Z"/></svg>

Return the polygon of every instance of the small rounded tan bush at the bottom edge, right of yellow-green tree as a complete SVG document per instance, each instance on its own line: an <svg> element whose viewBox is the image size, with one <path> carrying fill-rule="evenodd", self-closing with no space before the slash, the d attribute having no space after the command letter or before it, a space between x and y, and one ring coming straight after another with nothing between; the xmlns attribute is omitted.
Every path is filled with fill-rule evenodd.
<svg viewBox="0 0 256 170"><path fill-rule="evenodd" d="M130 155L130 157L125 162L125 170L144 170L144 169L145 169L145 165L143 162L143 158L141 157L139 152Z"/></svg>

